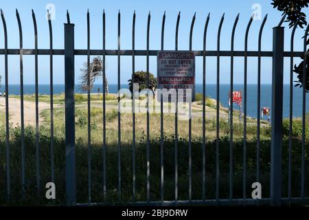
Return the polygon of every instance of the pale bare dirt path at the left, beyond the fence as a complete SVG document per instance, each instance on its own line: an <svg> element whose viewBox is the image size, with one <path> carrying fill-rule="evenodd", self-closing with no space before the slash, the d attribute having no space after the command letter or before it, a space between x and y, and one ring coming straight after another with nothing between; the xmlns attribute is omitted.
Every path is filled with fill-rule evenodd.
<svg viewBox="0 0 309 220"><path fill-rule="evenodd" d="M36 124L36 104L35 102L25 101L23 102L24 106L24 122L26 125L35 125ZM55 107L55 106L54 106ZM43 110L49 109L49 104L46 102L38 102L38 113L39 122L43 122L40 114ZM0 111L5 111L5 98L0 97ZM17 98L9 98L9 114L10 114L10 123L13 126L21 124L21 100Z"/></svg>

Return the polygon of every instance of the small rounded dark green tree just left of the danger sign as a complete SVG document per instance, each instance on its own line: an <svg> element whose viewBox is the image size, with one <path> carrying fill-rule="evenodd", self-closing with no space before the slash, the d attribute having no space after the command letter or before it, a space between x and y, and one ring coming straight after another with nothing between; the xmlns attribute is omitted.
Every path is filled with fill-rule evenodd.
<svg viewBox="0 0 309 220"><path fill-rule="evenodd" d="M131 93L133 93L133 82L132 78L128 80L128 85ZM149 87L147 87L147 72L139 71L134 73L134 83L139 84L139 91L142 89L151 89L155 95L155 89L157 88L157 80L153 74L149 73Z"/></svg>

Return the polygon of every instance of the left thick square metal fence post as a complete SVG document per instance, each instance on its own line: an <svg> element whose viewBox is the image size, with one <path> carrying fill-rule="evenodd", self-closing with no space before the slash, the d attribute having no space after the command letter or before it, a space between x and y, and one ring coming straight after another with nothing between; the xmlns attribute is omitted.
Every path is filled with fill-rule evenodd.
<svg viewBox="0 0 309 220"><path fill-rule="evenodd" d="M67 206L76 206L74 24L65 23L65 187Z"/></svg>

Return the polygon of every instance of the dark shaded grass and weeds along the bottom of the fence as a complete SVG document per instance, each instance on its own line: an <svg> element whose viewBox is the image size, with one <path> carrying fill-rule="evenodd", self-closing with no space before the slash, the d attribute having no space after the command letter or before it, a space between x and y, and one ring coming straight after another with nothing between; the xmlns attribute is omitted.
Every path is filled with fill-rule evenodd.
<svg viewBox="0 0 309 220"><path fill-rule="evenodd" d="M115 116L112 117L113 120ZM65 204L65 139L58 135L56 126L55 133L55 158L56 158L56 205ZM62 131L63 132L63 131ZM108 131L109 132L109 131ZM117 135L117 133L114 133ZM0 148L5 152L4 131L0 129ZM45 198L45 183L50 181L50 138L49 129L46 126L40 128L41 147L41 201L36 197L36 148L35 130L32 127L25 128L25 171L26 171L26 196L21 199L21 133L20 128L12 128L10 135L11 148L11 177L12 199L5 199L5 154L0 155L0 204L8 205L36 205L50 204ZM122 136L126 138L125 136ZM179 137L179 199L187 199L188 186L188 140ZM233 143L233 195L242 198L242 140ZM220 138L220 198L229 196L229 137ZM270 145L271 140L262 137L260 142L262 197L269 196L269 173L270 173ZM107 141L106 148L106 190L107 201L117 202L117 143ZM308 149L308 145L306 146ZM122 201L131 201L132 193L132 143L124 142L121 148L122 155ZM150 137L150 197L154 201L160 199L160 145L158 137ZM192 199L201 199L202 192L202 142L193 139L192 142ZM293 139L293 197L299 197L300 193L300 167L301 142L298 138ZM283 139L283 196L287 196L287 170L288 170L288 139ZM256 172L256 142L247 142L247 197L251 196L251 184L255 181ZM102 201L102 140L93 141L91 144L91 174L92 174L92 197L93 202ZM306 170L309 168L308 151L306 150ZM164 136L164 195L166 200L174 199L174 137ZM76 176L77 198L79 203L87 202L88 196L88 148L84 140L77 137L76 140ZM139 135L136 142L136 188L137 201L146 200L146 133ZM216 142L207 140L206 143L206 197L215 198L216 190ZM306 185L305 192L309 192Z"/></svg>

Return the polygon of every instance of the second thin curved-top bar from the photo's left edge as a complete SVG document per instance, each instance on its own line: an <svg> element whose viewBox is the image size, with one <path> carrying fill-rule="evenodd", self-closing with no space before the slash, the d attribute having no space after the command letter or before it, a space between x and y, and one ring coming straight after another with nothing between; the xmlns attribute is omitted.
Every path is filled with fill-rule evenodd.
<svg viewBox="0 0 309 220"><path fill-rule="evenodd" d="M24 113L23 113L23 31L21 29L21 19L16 9L16 17L19 23L19 68L20 68L20 92L21 92L21 195L25 197L25 133L24 133Z"/></svg>

